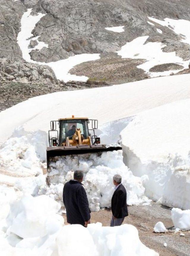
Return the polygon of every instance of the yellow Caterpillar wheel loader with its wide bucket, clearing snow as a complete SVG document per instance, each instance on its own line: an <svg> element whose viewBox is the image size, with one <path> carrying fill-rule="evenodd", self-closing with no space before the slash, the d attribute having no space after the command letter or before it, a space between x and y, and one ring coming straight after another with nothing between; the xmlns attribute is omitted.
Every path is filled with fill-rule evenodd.
<svg viewBox="0 0 190 256"><path fill-rule="evenodd" d="M78 155L86 153L99 153L105 151L121 150L119 144L100 144L100 138L95 135L98 120L86 117L60 118L50 121L49 147L47 147L47 184L49 163L59 156ZM50 175L50 174L49 174Z"/></svg>

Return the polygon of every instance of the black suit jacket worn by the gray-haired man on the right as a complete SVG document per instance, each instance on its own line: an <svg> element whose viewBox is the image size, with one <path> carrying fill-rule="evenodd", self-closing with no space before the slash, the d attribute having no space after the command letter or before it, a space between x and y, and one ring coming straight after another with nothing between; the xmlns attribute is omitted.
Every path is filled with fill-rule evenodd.
<svg viewBox="0 0 190 256"><path fill-rule="evenodd" d="M128 216L127 210L127 192L121 184L115 190L112 196L112 214L115 218L124 218Z"/></svg>

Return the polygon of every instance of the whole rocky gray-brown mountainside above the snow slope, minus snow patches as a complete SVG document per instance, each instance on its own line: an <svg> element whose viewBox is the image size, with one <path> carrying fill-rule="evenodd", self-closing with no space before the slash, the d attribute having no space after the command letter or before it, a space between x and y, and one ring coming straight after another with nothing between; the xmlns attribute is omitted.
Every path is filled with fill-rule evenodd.
<svg viewBox="0 0 190 256"><path fill-rule="evenodd" d="M4 94L6 88L10 87L9 83L11 88L14 83L21 87L24 84L30 88L34 86L35 95L38 95L38 85L44 88L45 93L50 87L53 91L62 90L63 85L64 90L71 89L70 84L56 77L55 70L48 63L80 54L100 54L98 60L73 65L75 67L69 71L71 74L88 76L90 84L93 81L100 81L101 85L119 84L149 78L149 72L137 67L148 60L148 57L144 58L138 53L140 46L136 46L134 57L130 57L130 54L129 57L122 57L118 53L127 42L142 36L148 36L144 44L162 44L162 53L175 52L175 56L182 61L190 59L190 42L184 41L186 35L178 32L169 22L169 25L162 25L148 18L190 21L189 0L0 0L0 4L0 87L1 91L4 88ZM44 15L32 28L28 45L30 61L26 61L17 37L21 30L21 18L29 8L31 16L38 13ZM117 26L123 27L122 33L105 29ZM186 30L189 30L188 25ZM40 42L46 47L39 50L37 46ZM172 62L168 58L165 63L159 64L158 61L149 71L155 76L156 72L167 70L188 73L186 68L187 64L182 66L179 61ZM86 83L83 83L82 88L85 87ZM16 88L18 86L12 91L15 95ZM41 93L40 89L39 95ZM12 101L12 104L15 102Z"/></svg>

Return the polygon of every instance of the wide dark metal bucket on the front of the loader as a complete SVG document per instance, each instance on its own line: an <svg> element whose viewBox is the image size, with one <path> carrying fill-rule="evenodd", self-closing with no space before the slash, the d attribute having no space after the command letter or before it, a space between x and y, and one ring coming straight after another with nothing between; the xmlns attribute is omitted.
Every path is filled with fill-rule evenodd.
<svg viewBox="0 0 190 256"><path fill-rule="evenodd" d="M80 155L87 153L102 153L107 151L121 150L122 147L119 144L110 145L81 145L81 146L57 146L57 147L47 147L47 185L50 185L50 179L48 177L48 167L50 161L55 159L55 157L66 156L66 155Z"/></svg>

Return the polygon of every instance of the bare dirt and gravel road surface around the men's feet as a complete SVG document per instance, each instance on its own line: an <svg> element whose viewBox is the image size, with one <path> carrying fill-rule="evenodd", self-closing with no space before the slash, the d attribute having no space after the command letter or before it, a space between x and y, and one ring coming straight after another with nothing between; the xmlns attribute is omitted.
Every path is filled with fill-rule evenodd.
<svg viewBox="0 0 190 256"><path fill-rule="evenodd" d="M129 216L125 218L124 223L132 224L138 229L140 240L146 246L154 249L161 256L190 255L190 232L180 232L185 234L185 236L180 236L179 232L172 231L171 209L154 202L150 206L128 207ZM103 226L109 226L111 215L111 211L108 209L92 212L91 223L101 222ZM66 222L65 215L64 219ZM170 232L154 233L153 228L158 221L162 221ZM167 243L167 247L164 247L164 243Z"/></svg>

